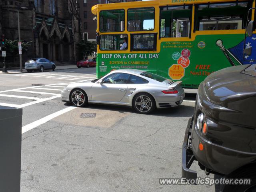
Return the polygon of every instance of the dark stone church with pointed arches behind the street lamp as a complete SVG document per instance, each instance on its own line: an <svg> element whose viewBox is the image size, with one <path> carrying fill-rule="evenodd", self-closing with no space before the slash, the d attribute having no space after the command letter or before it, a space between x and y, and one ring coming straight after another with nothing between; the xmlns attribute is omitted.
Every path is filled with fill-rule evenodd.
<svg viewBox="0 0 256 192"><path fill-rule="evenodd" d="M34 57L57 64L77 59L81 27L76 0L0 0L0 34L6 39L18 39L18 10L21 40L33 41L22 54L23 64Z"/></svg>

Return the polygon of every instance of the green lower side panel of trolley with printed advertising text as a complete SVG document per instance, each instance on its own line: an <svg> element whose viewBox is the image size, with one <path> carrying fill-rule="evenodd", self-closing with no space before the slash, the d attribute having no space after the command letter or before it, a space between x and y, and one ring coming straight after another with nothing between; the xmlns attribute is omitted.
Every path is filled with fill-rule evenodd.
<svg viewBox="0 0 256 192"><path fill-rule="evenodd" d="M198 35L194 41L162 42L160 52L120 54L98 53L97 77L112 70L146 70L172 80L182 80L183 88L198 88L200 82L222 68L250 64L256 53L243 59L244 34ZM255 45L254 45L255 44ZM246 46L256 46L256 34L246 38Z"/></svg>

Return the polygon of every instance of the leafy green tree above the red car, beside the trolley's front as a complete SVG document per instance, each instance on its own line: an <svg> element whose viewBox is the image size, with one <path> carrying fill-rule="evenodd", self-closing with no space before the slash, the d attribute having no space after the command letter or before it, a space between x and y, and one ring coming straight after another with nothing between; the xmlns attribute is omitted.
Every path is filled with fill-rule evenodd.
<svg viewBox="0 0 256 192"><path fill-rule="evenodd" d="M92 56L94 52L97 52L97 45L95 41L81 40L76 44L78 48L79 58L86 57L88 55Z"/></svg>

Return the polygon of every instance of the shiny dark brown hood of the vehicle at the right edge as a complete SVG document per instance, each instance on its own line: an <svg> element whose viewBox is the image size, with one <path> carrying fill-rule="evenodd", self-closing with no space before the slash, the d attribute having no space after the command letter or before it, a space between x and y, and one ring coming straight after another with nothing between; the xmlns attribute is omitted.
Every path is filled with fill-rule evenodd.
<svg viewBox="0 0 256 192"><path fill-rule="evenodd" d="M249 66L228 67L210 74L204 80L207 98L212 103L230 108L230 102L256 96L256 77L245 73ZM251 66L255 69L256 64Z"/></svg>

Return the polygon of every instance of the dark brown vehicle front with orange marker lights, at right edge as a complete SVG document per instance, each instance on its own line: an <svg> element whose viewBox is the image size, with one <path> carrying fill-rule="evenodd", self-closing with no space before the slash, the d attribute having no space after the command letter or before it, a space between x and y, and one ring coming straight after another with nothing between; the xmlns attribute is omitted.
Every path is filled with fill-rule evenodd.
<svg viewBox="0 0 256 192"><path fill-rule="evenodd" d="M182 177L197 178L189 169L194 160L206 175L251 179L250 185L215 185L217 191L256 191L256 64L222 69L200 84L182 148Z"/></svg>

